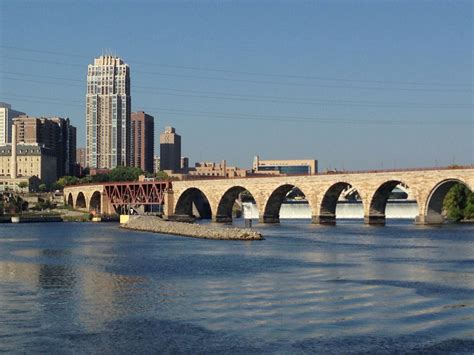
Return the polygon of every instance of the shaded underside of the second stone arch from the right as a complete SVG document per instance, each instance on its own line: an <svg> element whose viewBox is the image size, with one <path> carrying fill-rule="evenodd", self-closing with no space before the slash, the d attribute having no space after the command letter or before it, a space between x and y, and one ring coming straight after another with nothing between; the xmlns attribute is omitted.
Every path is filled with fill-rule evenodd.
<svg viewBox="0 0 474 355"><path fill-rule="evenodd" d="M392 191L399 185L406 189L409 185L401 179L388 180L382 183L373 193L368 215L364 216L364 222L367 224L385 224L385 209L387 201ZM406 193L408 196L408 192ZM415 198L416 200L416 198ZM418 201L416 200L417 204Z"/></svg>

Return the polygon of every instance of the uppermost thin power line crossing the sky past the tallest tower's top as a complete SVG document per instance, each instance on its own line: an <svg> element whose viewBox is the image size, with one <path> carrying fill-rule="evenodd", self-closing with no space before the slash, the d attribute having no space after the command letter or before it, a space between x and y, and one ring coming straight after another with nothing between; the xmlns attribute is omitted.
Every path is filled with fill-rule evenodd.
<svg viewBox="0 0 474 355"><path fill-rule="evenodd" d="M61 55L66 57L74 58L87 58L89 56L80 55L80 54L70 54L70 53L61 53L56 51L45 51L39 49L31 49L17 46L1 45L0 47L7 49L14 49L25 52L33 53L45 53L53 55ZM261 73L261 72L249 72L249 71L237 71L230 69L216 69L208 67L196 67L196 66L184 66L184 65L175 65L175 64L165 64L165 63L150 63L143 61L133 61L133 63L148 65L148 66L160 66L167 68L175 69L185 69L193 71L208 71L208 72L217 72L217 73L229 73L229 74L239 74L239 75L252 75L252 76L264 76L264 77L279 77L279 78L293 78L293 79L304 79L304 80L319 80L319 81L338 81L338 82L359 82L359 83L375 83L375 84L394 84L394 85L420 85L420 86L465 86L472 87L470 83L440 83L440 82L419 82L419 81L391 81L391 80L366 80L366 79L347 79L347 78L335 78L335 77L325 77L325 76L312 76L312 75L293 75L293 74L278 74L278 73Z"/></svg>

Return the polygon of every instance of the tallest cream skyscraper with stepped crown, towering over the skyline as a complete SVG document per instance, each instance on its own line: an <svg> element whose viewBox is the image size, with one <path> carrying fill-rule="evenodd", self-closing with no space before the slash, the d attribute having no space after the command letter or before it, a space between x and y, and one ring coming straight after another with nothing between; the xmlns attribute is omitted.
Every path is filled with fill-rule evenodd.
<svg viewBox="0 0 474 355"><path fill-rule="evenodd" d="M87 69L86 164L113 169L130 164L130 68L103 55Z"/></svg>

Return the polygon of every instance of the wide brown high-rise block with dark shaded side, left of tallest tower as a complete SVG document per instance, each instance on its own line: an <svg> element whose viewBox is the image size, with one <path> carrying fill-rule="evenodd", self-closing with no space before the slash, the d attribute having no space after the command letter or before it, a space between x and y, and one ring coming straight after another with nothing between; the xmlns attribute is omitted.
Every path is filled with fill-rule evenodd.
<svg viewBox="0 0 474 355"><path fill-rule="evenodd" d="M18 143L39 144L51 149L57 158L56 176L74 175L76 127L69 118L37 118L22 115L13 120Z"/></svg>

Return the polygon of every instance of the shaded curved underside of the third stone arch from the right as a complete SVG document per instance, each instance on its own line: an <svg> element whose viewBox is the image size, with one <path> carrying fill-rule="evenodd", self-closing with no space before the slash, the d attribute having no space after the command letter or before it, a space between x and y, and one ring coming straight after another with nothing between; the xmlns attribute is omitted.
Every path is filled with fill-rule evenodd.
<svg viewBox="0 0 474 355"><path fill-rule="evenodd" d="M336 224L336 207L341 193L348 189L355 188L359 196L361 191L353 184L346 181L338 181L329 186L322 194L321 203L319 205L319 214L313 216L313 223L318 224ZM363 204L362 200L362 204Z"/></svg>

